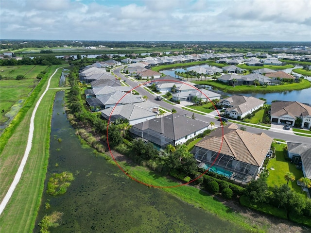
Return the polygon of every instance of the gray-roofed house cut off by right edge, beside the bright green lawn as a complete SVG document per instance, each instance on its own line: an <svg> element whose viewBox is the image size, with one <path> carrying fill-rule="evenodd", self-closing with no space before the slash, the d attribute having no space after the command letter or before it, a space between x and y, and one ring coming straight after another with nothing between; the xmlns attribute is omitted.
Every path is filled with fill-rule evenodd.
<svg viewBox="0 0 311 233"><path fill-rule="evenodd" d="M303 176L311 179L311 145L287 142L287 155L295 163L302 163ZM299 179L299 177L297 177Z"/></svg>

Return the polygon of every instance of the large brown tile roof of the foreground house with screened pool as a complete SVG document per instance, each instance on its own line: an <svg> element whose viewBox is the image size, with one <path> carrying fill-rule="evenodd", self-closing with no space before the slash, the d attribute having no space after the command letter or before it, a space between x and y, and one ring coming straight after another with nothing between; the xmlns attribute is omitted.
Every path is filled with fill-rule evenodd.
<svg viewBox="0 0 311 233"><path fill-rule="evenodd" d="M221 148L219 152L222 154L232 156L244 163L261 166L272 141L273 139L265 133L254 134L242 130L233 130L229 133L224 132L223 138L222 136L206 137L205 140L200 141L195 146L217 152Z"/></svg>

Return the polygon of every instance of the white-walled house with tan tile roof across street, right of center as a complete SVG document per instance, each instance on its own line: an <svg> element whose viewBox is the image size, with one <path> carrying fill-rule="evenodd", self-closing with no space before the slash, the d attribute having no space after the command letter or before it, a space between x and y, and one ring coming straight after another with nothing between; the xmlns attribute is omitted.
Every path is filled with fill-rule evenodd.
<svg viewBox="0 0 311 233"><path fill-rule="evenodd" d="M234 119L244 118L248 114L261 108L263 104L264 100L259 100L252 96L246 97L241 95L230 96L217 103L217 105L227 108L225 113L228 117Z"/></svg>

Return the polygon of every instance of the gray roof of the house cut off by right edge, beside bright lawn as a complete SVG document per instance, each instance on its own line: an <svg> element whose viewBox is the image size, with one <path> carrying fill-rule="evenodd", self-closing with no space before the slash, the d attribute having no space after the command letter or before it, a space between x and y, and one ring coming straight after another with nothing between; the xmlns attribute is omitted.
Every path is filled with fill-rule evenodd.
<svg viewBox="0 0 311 233"><path fill-rule="evenodd" d="M306 177L311 179L311 145L287 142L287 148L289 152L300 155Z"/></svg>

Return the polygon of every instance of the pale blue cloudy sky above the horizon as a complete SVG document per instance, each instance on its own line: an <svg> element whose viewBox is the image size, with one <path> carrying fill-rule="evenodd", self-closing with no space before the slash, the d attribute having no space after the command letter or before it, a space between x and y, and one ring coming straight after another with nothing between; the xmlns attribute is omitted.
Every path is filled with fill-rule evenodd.
<svg viewBox="0 0 311 233"><path fill-rule="evenodd" d="M311 1L0 0L0 38L311 41Z"/></svg>

